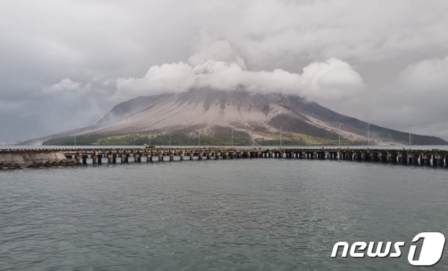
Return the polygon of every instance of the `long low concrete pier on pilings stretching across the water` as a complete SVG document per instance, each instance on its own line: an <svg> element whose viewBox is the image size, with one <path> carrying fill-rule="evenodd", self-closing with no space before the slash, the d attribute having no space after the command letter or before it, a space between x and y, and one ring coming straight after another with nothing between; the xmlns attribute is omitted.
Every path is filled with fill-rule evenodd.
<svg viewBox="0 0 448 271"><path fill-rule="evenodd" d="M447 164L447 150L385 150L370 148L46 148L0 149L2 155L63 154L66 159L38 159L20 164L0 159L0 169L75 166L82 164L125 164L202 159L283 158L283 159L339 159L347 161L383 162L440 166ZM53 155L54 156L54 155ZM51 157L53 157L51 156ZM3 156L4 157L4 156ZM42 155L41 155L42 157ZM176 157L176 159L174 159ZM13 159L14 160L14 159ZM89 163L88 163L89 160Z"/></svg>

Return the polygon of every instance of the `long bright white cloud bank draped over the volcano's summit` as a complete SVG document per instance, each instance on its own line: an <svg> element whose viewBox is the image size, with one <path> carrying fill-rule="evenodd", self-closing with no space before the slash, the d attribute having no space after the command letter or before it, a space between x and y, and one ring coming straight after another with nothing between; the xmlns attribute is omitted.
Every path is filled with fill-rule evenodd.
<svg viewBox="0 0 448 271"><path fill-rule="evenodd" d="M151 67L143 78L121 78L116 99L188 89L232 91L240 85L249 91L283 92L318 101L350 98L365 88L359 73L336 58L311 63L302 74L283 69L247 71L236 62L207 60L194 67L183 62L163 64Z"/></svg>

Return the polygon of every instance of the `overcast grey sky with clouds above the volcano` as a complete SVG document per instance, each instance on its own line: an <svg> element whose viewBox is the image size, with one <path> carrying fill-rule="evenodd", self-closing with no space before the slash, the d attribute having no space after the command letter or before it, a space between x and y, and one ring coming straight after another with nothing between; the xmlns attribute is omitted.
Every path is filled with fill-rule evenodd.
<svg viewBox="0 0 448 271"><path fill-rule="evenodd" d="M91 125L139 95L238 85L448 139L447 10L446 0L1 0L0 142Z"/></svg>

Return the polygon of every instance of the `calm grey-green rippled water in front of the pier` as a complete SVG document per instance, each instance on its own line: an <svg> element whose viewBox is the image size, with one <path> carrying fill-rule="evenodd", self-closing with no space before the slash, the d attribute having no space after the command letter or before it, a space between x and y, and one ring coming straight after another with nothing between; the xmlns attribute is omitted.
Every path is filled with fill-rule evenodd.
<svg viewBox="0 0 448 271"><path fill-rule="evenodd" d="M448 168L355 161L1 171L0 270L417 269L413 236L448 238L447 195ZM332 259L338 241L406 246L398 259ZM448 253L428 270L448 270Z"/></svg>

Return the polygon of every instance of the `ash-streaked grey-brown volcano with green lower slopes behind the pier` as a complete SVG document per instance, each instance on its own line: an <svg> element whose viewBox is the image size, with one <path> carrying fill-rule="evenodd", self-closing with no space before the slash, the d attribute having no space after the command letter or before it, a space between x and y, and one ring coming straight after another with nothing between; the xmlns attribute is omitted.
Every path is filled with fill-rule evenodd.
<svg viewBox="0 0 448 271"><path fill-rule="evenodd" d="M258 94L244 88L236 91L194 89L180 94L133 98L116 105L96 125L43 139L65 137L67 142L71 142L70 136L78 134L81 137L84 134L86 137L94 135L89 140L98 139L97 143L114 142L116 138L105 137L138 131L138 134L160 136L162 140L168 131L178 131L178 134L188 137L201 132L212 142L213 134L216 139L227 137L225 134L230 135L230 131L235 130L247 134L253 143L266 145L278 143L281 128L285 143L331 144L339 141L339 123L343 143L367 143L368 123L338 114L299 96ZM412 138L413 144L447 144L438 137L413 134ZM163 140L161 142L165 142ZM408 140L408 133L370 125L371 144L407 143ZM179 142L188 143L190 140Z"/></svg>

